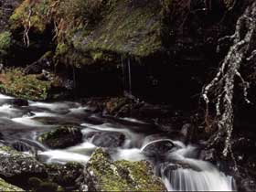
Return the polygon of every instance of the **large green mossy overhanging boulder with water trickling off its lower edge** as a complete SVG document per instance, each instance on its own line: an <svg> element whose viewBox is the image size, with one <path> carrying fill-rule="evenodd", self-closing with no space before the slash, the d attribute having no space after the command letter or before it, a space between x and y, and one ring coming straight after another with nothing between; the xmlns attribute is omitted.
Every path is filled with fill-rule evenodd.
<svg viewBox="0 0 256 192"><path fill-rule="evenodd" d="M110 64L116 63L117 55L146 58L162 51L160 1L107 2L100 10L101 20L70 30L65 41L59 42L60 61Z"/></svg>

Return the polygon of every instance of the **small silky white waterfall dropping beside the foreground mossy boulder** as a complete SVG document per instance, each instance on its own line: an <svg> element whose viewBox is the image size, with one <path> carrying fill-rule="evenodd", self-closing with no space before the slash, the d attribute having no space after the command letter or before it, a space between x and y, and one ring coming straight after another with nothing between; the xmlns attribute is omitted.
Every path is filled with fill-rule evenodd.
<svg viewBox="0 0 256 192"><path fill-rule="evenodd" d="M169 191L234 191L235 181L208 162L194 159L197 147L188 145L178 149L160 163L159 175Z"/></svg>

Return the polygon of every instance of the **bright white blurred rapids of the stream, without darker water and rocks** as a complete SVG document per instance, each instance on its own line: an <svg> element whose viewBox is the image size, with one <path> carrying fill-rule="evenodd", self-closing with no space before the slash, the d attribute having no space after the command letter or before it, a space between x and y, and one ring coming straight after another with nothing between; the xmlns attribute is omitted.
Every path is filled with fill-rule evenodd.
<svg viewBox="0 0 256 192"><path fill-rule="evenodd" d="M0 100L5 99L11 99L11 97L0 94ZM54 127L37 122L35 119L37 117L72 117L82 122L81 127L83 127L82 133L84 135L82 144L77 144L63 150L49 150L47 147L41 146L45 151L38 151L38 156L48 164L65 164L69 161L86 164L93 151L97 148L96 145L92 144L92 137L86 139L86 135L92 132L123 133L125 135L123 145L109 149L114 161L122 159L129 161L150 160L144 155L146 146L162 141L170 141L175 144L176 147L166 153L164 159L160 162L155 162L156 174L158 173L162 177L165 187L170 191L231 191L236 189L231 176L226 176L219 172L214 165L197 159L197 146L185 145L180 141L172 141L166 138L159 139L159 137L154 137L154 135L148 133L133 132L130 125L120 123L94 125L87 123L83 120L83 114L89 108L82 106L78 102L44 103L29 101L29 107L31 107L30 112L33 115L26 115L22 109L5 104L0 106L0 114L12 122L35 127L35 131L30 133L31 141L37 139L40 127L47 127L48 129ZM37 111L37 109L40 110ZM91 117L95 118L97 116L91 114ZM136 119L123 118L122 120L137 123L137 126L140 126L140 124L146 125L146 123ZM26 141L26 138L22 141ZM37 141L34 142L40 145ZM178 167L171 168L175 165L178 165Z"/></svg>

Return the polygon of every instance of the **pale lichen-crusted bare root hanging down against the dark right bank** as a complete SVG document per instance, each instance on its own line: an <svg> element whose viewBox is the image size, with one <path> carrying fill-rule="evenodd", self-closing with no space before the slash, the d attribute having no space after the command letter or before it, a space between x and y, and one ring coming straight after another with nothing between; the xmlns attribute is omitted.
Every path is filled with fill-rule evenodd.
<svg viewBox="0 0 256 192"><path fill-rule="evenodd" d="M219 71L215 78L211 80L204 88L202 97L207 105L210 100L215 100L215 115L217 118L218 130L208 140L208 147L214 144L224 142L222 155L225 157L230 155L234 159L231 150L231 135L233 132L233 97L235 88L235 79L239 77L243 84L243 96L245 101L250 103L247 99L249 82L245 81L240 75L240 67L244 59L251 59L255 57L256 51L251 51L256 35L256 1L247 7L245 12L237 21L234 35L230 37L223 37L222 39L230 39L232 46L229 48L229 53L219 67ZM250 55L249 57L247 57ZM209 99L209 94L214 98ZM208 113L206 114L208 115ZM208 117L206 117L208 118Z"/></svg>

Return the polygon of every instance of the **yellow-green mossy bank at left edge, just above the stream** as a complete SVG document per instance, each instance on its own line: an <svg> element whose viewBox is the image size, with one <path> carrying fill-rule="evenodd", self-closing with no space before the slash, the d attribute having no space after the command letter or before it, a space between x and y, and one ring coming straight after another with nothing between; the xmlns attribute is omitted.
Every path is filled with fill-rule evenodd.
<svg viewBox="0 0 256 192"><path fill-rule="evenodd" d="M23 69L5 69L0 74L0 90L27 100L45 100L50 82L37 80L37 75L25 75Z"/></svg>

